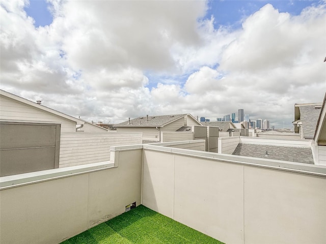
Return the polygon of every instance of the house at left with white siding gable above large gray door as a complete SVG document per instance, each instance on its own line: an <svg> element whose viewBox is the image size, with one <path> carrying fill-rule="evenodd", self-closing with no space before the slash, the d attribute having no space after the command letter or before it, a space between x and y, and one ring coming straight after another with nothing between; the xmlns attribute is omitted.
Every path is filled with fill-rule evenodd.
<svg viewBox="0 0 326 244"><path fill-rule="evenodd" d="M62 134L83 132L107 130L0 90L0 176L58 168Z"/></svg>

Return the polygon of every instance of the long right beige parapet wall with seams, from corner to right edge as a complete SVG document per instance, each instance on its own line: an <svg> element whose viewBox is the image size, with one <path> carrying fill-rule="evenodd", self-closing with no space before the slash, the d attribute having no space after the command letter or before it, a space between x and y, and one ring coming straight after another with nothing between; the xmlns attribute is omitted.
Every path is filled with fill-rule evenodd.
<svg viewBox="0 0 326 244"><path fill-rule="evenodd" d="M325 167L144 145L142 203L225 243L326 243Z"/></svg>

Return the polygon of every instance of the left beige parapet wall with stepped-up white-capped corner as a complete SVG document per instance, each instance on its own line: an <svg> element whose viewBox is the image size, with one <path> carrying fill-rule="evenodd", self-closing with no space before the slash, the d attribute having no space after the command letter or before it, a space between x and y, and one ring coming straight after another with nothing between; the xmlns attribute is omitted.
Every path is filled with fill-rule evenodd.
<svg viewBox="0 0 326 244"><path fill-rule="evenodd" d="M142 147L114 162L0 177L0 243L60 243L141 202Z"/></svg>

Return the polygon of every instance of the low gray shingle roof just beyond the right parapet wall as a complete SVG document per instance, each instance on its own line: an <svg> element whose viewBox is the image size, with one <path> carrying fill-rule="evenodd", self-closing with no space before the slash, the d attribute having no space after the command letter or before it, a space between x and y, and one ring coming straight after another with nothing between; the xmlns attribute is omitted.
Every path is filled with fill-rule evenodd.
<svg viewBox="0 0 326 244"><path fill-rule="evenodd" d="M265 156L267 151L268 157ZM239 143L233 155L314 164L311 148Z"/></svg>

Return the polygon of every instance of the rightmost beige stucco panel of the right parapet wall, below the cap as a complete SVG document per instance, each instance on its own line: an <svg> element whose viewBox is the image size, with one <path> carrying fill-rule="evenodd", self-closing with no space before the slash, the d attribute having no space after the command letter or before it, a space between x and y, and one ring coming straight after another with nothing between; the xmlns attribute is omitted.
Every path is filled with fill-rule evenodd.
<svg viewBox="0 0 326 244"><path fill-rule="evenodd" d="M325 177L244 168L246 243L325 243Z"/></svg>

